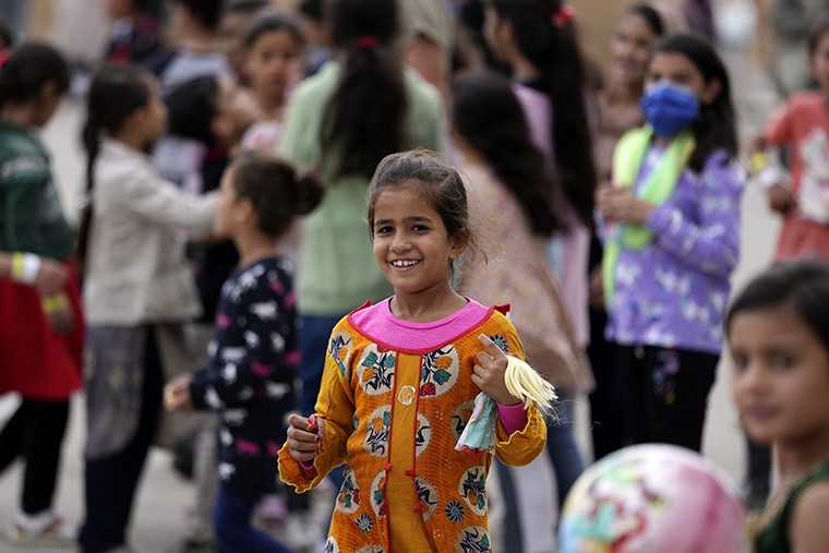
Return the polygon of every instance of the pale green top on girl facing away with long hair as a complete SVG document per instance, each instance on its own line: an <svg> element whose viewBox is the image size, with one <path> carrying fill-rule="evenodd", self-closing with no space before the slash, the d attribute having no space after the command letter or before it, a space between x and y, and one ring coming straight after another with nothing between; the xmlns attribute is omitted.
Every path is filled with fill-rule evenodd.
<svg viewBox="0 0 829 553"><path fill-rule="evenodd" d="M392 287L377 267L365 224L369 179L335 178L337 155L323 157L320 129L340 68L328 62L304 81L288 108L280 153L300 169L316 169L326 184L320 206L303 220L297 268L297 300L303 315L344 315L367 300L379 302ZM437 91L412 70L405 70L408 107L406 148L436 151L441 140Z"/></svg>

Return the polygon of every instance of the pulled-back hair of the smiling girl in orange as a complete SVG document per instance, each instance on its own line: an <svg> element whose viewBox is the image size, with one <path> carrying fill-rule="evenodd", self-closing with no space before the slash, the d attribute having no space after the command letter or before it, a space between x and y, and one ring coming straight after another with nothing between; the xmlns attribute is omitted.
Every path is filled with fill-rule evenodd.
<svg viewBox="0 0 829 553"><path fill-rule="evenodd" d="M425 149L400 152L384 157L371 179L367 218L374 239L374 207L380 194L395 187L416 187L441 216L452 238L474 243L469 228L466 185L452 166Z"/></svg>

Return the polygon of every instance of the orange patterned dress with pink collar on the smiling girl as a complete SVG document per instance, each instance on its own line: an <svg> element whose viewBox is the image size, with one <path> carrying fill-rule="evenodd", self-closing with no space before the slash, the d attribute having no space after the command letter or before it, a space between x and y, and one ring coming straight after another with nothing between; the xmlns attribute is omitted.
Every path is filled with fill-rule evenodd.
<svg viewBox="0 0 829 553"><path fill-rule="evenodd" d="M480 334L524 357L509 321L474 301L411 323L385 300L334 328L316 402L322 449L309 469L279 452L280 478L300 492L346 462L326 552L491 551L492 456L455 449L480 392L471 380ZM508 465L530 462L546 438L534 407L522 429L507 434L498 423L496 432L495 455Z"/></svg>

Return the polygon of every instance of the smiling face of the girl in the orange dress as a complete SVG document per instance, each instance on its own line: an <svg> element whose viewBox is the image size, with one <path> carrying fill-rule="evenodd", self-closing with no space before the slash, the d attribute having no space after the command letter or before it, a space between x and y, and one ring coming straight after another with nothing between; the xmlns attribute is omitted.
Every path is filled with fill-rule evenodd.
<svg viewBox="0 0 829 553"><path fill-rule="evenodd" d="M374 204L374 257L396 294L449 289L452 260L466 243L449 237L441 215L413 185L380 193Z"/></svg>

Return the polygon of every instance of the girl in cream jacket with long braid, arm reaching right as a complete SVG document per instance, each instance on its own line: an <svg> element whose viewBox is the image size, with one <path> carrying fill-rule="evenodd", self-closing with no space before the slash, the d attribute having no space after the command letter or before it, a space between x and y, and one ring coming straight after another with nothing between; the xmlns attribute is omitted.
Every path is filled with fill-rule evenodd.
<svg viewBox="0 0 829 553"><path fill-rule="evenodd" d="M84 553L125 546L161 412L165 368L157 344L180 342L182 324L201 311L180 230L209 231L216 199L190 196L153 168L145 153L166 122L158 84L145 70L115 64L93 76L79 239L92 368L86 521L79 540Z"/></svg>

